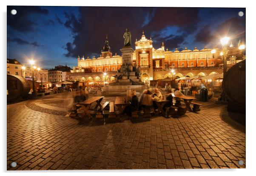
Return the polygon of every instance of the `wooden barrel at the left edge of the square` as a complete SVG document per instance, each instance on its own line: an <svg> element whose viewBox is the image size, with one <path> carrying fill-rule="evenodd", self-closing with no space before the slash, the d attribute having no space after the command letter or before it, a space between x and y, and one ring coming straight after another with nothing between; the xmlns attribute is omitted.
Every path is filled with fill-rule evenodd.
<svg viewBox="0 0 256 176"><path fill-rule="evenodd" d="M29 82L25 78L7 74L7 102L25 98L30 89Z"/></svg>

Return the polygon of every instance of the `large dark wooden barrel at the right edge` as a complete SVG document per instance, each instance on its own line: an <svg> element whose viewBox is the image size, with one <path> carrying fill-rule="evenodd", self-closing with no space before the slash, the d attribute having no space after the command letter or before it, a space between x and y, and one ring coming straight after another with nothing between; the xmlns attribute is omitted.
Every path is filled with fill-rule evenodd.
<svg viewBox="0 0 256 176"><path fill-rule="evenodd" d="M226 94L228 110L245 113L245 60L232 66L222 82Z"/></svg>

